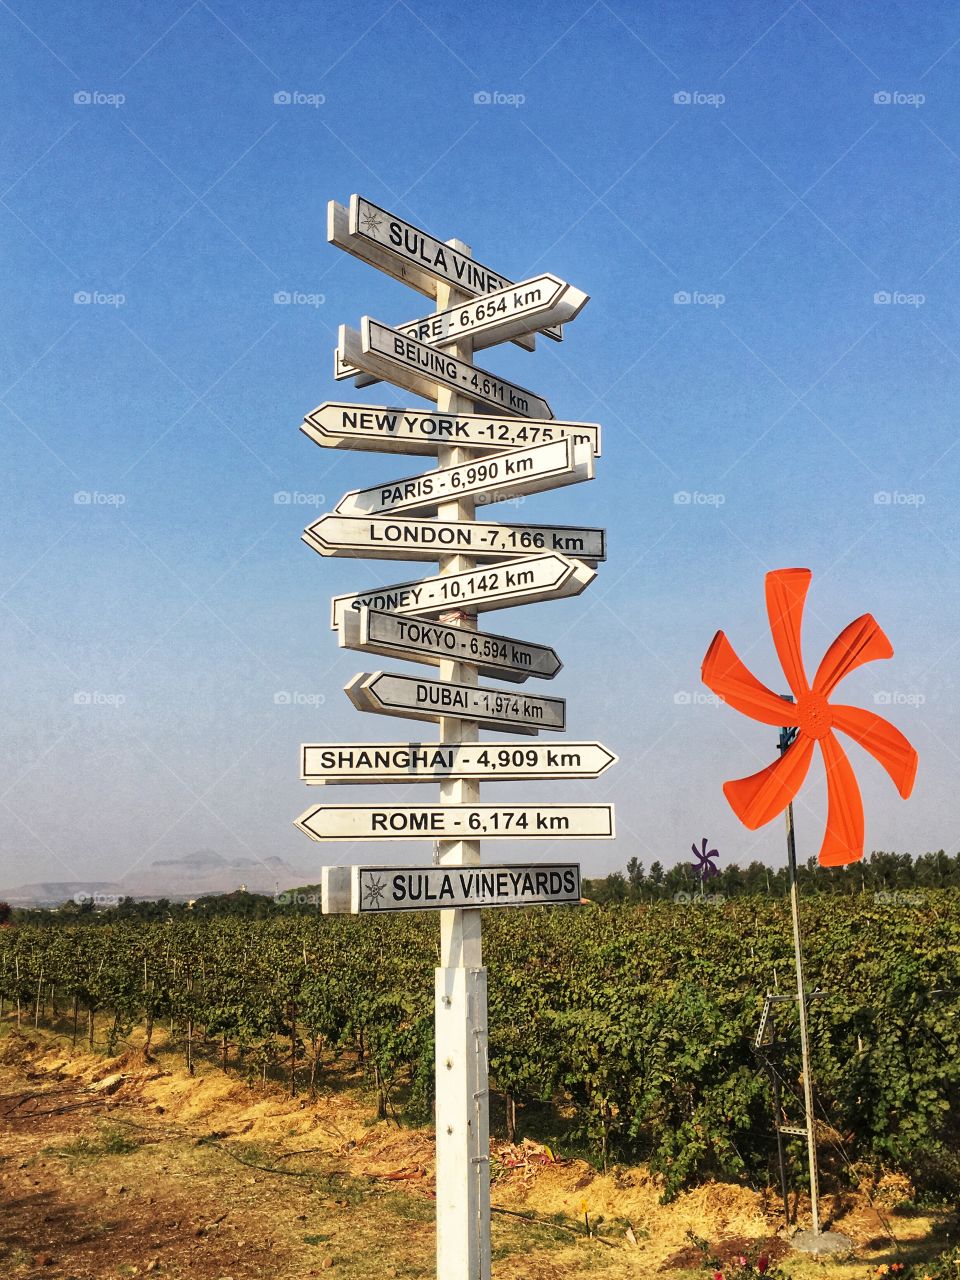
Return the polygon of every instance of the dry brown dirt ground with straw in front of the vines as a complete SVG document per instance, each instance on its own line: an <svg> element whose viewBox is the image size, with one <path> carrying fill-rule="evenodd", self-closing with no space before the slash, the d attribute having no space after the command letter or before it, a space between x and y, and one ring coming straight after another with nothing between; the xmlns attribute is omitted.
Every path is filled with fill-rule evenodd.
<svg viewBox="0 0 960 1280"><path fill-rule="evenodd" d="M104 1059L5 1029L0 1276L433 1276L433 1134L372 1121L356 1080L333 1083L308 1102L210 1068L189 1076L163 1051ZM828 1211L854 1256L813 1262L777 1236L776 1201L745 1188L664 1206L641 1169L598 1175L530 1142L494 1142L492 1157L494 1275L511 1280L705 1275L691 1236L724 1260L786 1256L800 1280L861 1280L941 1247L933 1220L850 1197Z"/></svg>

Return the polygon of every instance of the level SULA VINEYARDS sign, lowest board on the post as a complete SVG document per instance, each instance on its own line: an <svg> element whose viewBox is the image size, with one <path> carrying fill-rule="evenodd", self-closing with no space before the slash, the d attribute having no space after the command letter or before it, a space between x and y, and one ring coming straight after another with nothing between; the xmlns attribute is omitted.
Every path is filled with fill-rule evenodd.
<svg viewBox="0 0 960 1280"><path fill-rule="evenodd" d="M580 904L580 864L324 867L324 915Z"/></svg>

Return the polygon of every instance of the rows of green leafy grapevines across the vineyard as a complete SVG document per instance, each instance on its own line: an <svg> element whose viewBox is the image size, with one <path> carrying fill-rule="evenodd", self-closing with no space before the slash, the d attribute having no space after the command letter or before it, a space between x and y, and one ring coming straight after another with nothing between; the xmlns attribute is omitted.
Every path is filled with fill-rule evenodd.
<svg viewBox="0 0 960 1280"><path fill-rule="evenodd" d="M960 1188L960 897L804 905L819 1139L835 1184L905 1172ZM498 1123L598 1165L643 1161L664 1193L776 1180L772 1075L800 1115L785 904L489 913ZM114 1052L164 1027L188 1066L312 1091L338 1061L381 1115L429 1117L436 928L422 916L115 922L0 929L0 1012ZM504 1119L506 1117L506 1119ZM799 1147L794 1152L799 1158Z"/></svg>

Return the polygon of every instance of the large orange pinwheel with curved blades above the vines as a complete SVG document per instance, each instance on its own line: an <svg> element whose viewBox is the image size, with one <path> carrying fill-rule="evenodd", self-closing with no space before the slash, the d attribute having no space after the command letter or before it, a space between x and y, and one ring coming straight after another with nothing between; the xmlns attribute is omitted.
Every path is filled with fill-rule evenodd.
<svg viewBox="0 0 960 1280"><path fill-rule="evenodd" d="M767 616L792 703L772 692L746 669L722 631L707 650L701 676L714 694L744 716L762 724L796 727L794 741L778 760L749 778L723 783L733 813L751 831L782 813L803 786L814 744L819 744L827 769L827 831L820 863L844 867L863 858L863 800L850 760L833 731L852 737L879 760L904 800L916 777L916 751L882 716L829 701L829 695L851 671L893 655L893 646L869 613L840 632L823 655L813 685L808 682L800 623L812 577L809 568L778 568L767 575Z"/></svg>

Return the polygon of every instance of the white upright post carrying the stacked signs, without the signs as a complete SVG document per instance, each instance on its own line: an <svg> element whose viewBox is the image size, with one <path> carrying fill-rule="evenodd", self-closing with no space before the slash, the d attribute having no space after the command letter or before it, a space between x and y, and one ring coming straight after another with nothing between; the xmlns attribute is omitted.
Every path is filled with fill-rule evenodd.
<svg viewBox="0 0 960 1280"><path fill-rule="evenodd" d="M448 241L463 255L470 247ZM467 302L467 294L438 285L436 308ZM451 355L472 362L474 344L463 339ZM456 392L438 389L440 412L472 413L474 403ZM474 451L443 445L442 467L468 462ZM474 520L472 498L442 503L440 520ZM475 567L467 556L443 556L442 573L462 573ZM443 622L476 630L476 616L454 611ZM476 685L470 663L440 662L440 680ZM442 742L476 742L476 722L440 719ZM440 782L440 804L475 804L480 786L465 778ZM443 865L480 863L476 840L444 840L436 846ZM490 1116L486 1070L486 970L483 968L479 909L440 911L440 968L435 972L436 1029L436 1275L438 1280L489 1280L490 1277Z"/></svg>

